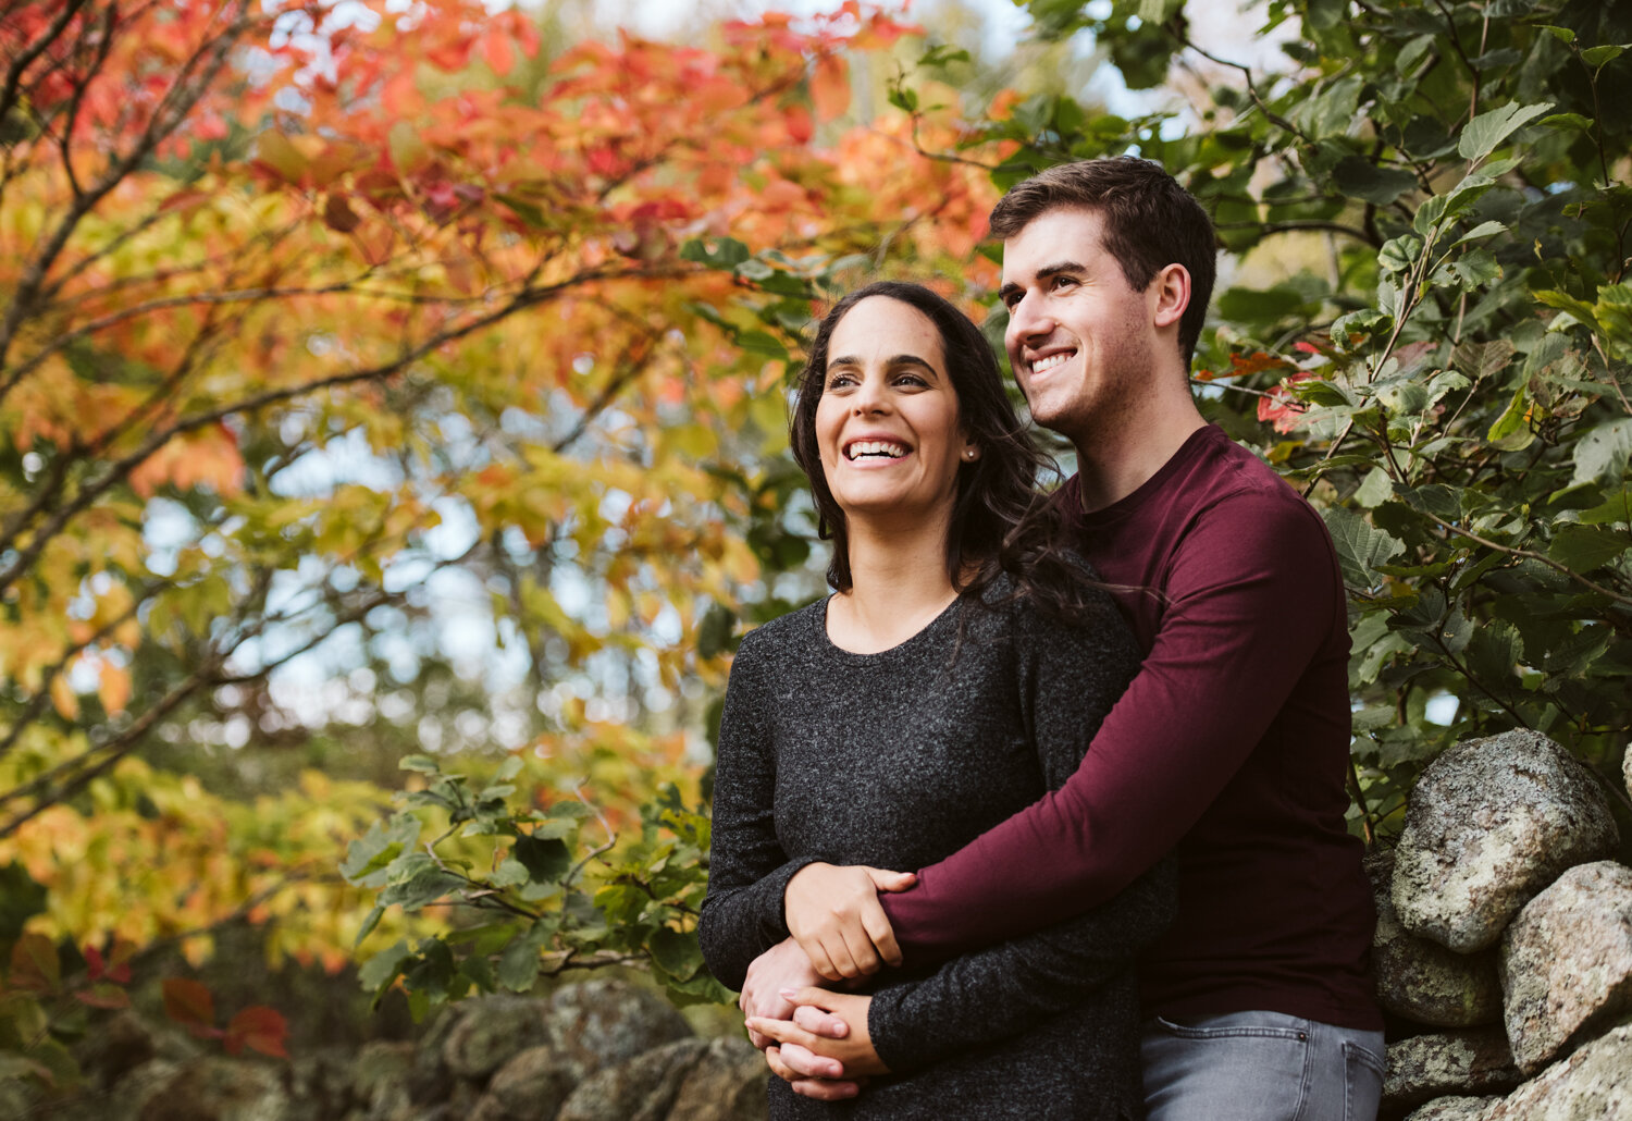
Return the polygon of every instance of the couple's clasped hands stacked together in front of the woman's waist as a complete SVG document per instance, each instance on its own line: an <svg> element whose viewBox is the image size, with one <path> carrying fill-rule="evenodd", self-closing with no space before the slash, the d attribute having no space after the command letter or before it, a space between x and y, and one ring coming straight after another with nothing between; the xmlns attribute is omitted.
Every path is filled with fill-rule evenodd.
<svg viewBox="0 0 1632 1121"><path fill-rule="evenodd" d="M787 886L792 938L747 968L738 1007L749 1039L793 1092L826 1101L860 1093L867 1077L888 1074L867 1028L871 997L819 987L855 982L901 964L880 891L917 883L906 871L813 863Z"/></svg>

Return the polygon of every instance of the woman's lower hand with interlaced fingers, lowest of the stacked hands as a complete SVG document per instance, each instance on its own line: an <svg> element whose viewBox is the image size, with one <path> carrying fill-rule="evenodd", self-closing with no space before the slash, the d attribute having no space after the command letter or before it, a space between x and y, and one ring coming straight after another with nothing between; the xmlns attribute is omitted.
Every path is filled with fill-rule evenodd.
<svg viewBox="0 0 1632 1121"><path fill-rule="evenodd" d="M795 1093L834 1101L855 1097L865 1077L889 1074L867 1031L871 997L826 989L785 989L780 995L798 1005L793 1018L754 1017L749 1030L777 1041L765 1062Z"/></svg>

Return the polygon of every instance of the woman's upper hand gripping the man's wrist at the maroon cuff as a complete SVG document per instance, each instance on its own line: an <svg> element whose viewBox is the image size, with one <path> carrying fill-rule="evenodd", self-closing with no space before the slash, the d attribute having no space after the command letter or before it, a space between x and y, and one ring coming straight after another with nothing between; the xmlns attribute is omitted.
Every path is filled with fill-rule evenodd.
<svg viewBox="0 0 1632 1121"><path fill-rule="evenodd" d="M911 871L852 865L805 865L788 880L782 909L788 932L811 966L827 981L849 981L901 964L901 948L889 928L880 891L906 891L917 883Z"/></svg>

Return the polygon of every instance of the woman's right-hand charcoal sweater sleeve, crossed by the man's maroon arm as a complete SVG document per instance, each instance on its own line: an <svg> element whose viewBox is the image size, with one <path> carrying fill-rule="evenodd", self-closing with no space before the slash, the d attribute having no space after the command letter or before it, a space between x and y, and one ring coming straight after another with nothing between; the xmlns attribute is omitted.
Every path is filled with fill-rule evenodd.
<svg viewBox="0 0 1632 1121"><path fill-rule="evenodd" d="M1110 602L1105 623L1066 628L1015 612L1020 707L1051 788L1077 769L1087 742L1138 667L1133 640ZM1046 865L1043 853L1028 863ZM1177 873L1164 860L1103 906L1046 930L976 950L922 982L875 994L868 1035L898 1074L1005 1039L1126 977L1134 956L1172 922Z"/></svg>

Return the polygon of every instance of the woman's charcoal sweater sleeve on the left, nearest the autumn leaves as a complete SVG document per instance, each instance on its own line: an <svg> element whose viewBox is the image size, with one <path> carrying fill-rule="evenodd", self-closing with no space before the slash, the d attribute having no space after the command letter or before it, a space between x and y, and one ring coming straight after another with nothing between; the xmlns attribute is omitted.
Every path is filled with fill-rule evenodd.
<svg viewBox="0 0 1632 1121"><path fill-rule="evenodd" d="M764 654L749 635L731 666L720 716L708 893L697 940L708 973L741 989L747 966L788 937L782 893L809 860L788 860L777 840L777 764L767 715Z"/></svg>

